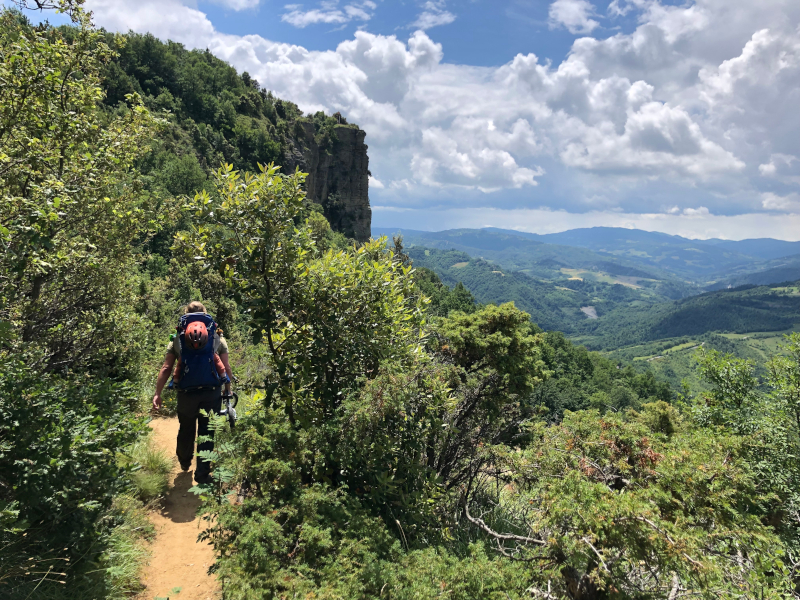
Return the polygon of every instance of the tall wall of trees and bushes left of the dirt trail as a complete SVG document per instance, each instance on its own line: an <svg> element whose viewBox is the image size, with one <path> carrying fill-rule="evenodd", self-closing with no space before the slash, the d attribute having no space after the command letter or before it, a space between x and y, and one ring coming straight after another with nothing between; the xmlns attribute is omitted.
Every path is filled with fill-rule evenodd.
<svg viewBox="0 0 800 600"><path fill-rule="evenodd" d="M162 215L135 163L156 123L98 104L110 57L0 13L0 594L123 598L152 535L140 500L171 465L147 451L134 310ZM145 457L148 457L145 459Z"/></svg>

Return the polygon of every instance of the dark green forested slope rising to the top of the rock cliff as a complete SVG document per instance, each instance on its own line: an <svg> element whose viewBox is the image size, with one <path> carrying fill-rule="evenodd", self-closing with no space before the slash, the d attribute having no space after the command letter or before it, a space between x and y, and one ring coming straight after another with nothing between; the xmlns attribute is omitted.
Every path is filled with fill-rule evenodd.
<svg viewBox="0 0 800 600"><path fill-rule="evenodd" d="M116 49L101 71L104 112L128 110L134 94L159 119L157 134L136 167L144 188L162 201L211 190L210 177L221 164L258 172L259 165L287 164L288 156L302 152L307 135L330 153L339 139L337 130L357 129L339 114L304 115L207 50L187 50L132 32L104 33L103 40ZM322 212L331 210L327 200L316 200L326 204ZM155 252L169 257L172 237L186 226L175 220L160 231L151 241Z"/></svg>

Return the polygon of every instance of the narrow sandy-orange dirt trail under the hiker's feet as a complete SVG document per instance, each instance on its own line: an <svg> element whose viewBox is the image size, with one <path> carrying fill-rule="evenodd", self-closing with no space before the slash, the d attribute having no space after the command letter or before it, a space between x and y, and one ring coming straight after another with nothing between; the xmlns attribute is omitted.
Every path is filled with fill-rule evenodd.
<svg viewBox="0 0 800 600"><path fill-rule="evenodd" d="M175 452L178 419L153 419L150 423L159 448ZM150 514L157 535L150 550L152 557L144 572L147 589L140 600L170 598L170 600L216 600L219 586L208 567L214 562L214 552L205 542L197 542L204 522L197 516L200 499L189 491L194 485L194 463L183 473L175 463L172 489L162 507ZM176 590L180 588L180 592Z"/></svg>

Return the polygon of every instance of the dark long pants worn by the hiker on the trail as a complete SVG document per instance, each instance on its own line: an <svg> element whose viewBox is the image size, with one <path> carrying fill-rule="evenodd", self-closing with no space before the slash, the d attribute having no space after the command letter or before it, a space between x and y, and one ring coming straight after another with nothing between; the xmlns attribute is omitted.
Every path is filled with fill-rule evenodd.
<svg viewBox="0 0 800 600"><path fill-rule="evenodd" d="M211 390L199 390L195 392L178 392L178 447L175 453L181 466L192 462L194 456L195 433L198 436L214 436L214 432L208 429L208 417L200 414L200 410L206 410L219 414L222 410L222 388ZM213 450L214 442L208 441L197 445L197 451ZM208 475L211 465L205 460L197 457L197 469L195 476Z"/></svg>

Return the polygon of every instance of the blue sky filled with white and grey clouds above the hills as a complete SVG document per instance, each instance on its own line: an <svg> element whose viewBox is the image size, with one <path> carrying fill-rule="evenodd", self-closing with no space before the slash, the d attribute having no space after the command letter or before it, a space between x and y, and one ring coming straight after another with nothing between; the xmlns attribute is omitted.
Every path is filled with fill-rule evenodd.
<svg viewBox="0 0 800 600"><path fill-rule="evenodd" d="M367 132L374 224L800 239L797 0L88 0Z"/></svg>

